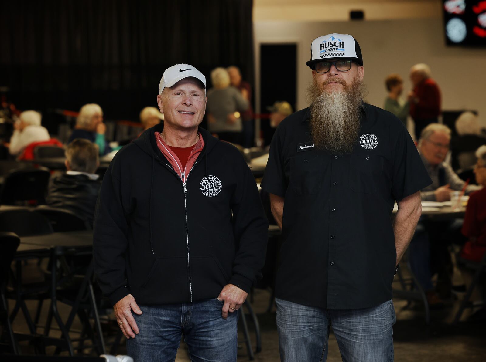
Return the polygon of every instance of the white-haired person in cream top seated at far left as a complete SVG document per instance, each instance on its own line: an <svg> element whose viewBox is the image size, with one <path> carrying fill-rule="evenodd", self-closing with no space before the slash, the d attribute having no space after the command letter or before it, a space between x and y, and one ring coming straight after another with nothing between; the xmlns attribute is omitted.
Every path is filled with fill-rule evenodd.
<svg viewBox="0 0 486 362"><path fill-rule="evenodd" d="M10 138L8 150L11 155L19 155L24 148L34 142L49 141L51 137L40 125L42 116L35 111L22 112L14 123L14 134Z"/></svg>

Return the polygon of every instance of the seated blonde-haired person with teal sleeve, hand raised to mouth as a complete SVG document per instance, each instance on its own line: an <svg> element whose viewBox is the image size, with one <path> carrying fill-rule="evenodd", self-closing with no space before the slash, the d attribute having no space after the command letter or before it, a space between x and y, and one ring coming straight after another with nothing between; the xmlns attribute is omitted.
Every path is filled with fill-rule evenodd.
<svg viewBox="0 0 486 362"><path fill-rule="evenodd" d="M69 141L76 138L85 138L90 142L96 143L99 148L100 155L105 155L111 152L104 137L106 132L106 125L103 123L103 110L98 104L85 104L79 110L78 118L76 119L76 127L69 137Z"/></svg>

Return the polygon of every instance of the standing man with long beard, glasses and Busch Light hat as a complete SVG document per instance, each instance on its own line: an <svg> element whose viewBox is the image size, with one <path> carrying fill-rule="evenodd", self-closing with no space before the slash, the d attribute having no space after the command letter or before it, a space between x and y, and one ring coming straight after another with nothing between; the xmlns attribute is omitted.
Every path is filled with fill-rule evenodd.
<svg viewBox="0 0 486 362"><path fill-rule="evenodd" d="M363 102L351 35L316 38L306 65L311 106L280 123L262 182L282 228L280 358L325 361L332 326L343 361L393 361L391 285L431 180L399 119Z"/></svg>

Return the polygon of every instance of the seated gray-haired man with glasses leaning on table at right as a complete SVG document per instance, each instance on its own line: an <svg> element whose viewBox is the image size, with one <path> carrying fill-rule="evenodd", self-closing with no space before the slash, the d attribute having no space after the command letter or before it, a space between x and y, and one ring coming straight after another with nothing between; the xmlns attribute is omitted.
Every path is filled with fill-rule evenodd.
<svg viewBox="0 0 486 362"><path fill-rule="evenodd" d="M432 123L421 133L418 151L433 181L432 185L422 190L422 200L449 201L451 193L462 190L465 185L465 181L444 162L450 142L451 130L442 124ZM470 194L480 188L468 185L465 192ZM448 246L452 242L463 241L460 222L421 220L417 224L410 243L410 262L431 307L442 305L439 296L447 298L451 294L452 262ZM438 280L434 291L432 275L435 273L438 274Z"/></svg>

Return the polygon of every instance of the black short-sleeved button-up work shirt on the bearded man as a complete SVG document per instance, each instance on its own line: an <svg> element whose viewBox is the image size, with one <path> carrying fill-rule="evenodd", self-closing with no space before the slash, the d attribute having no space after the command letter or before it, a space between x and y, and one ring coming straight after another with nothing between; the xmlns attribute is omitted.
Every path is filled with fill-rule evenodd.
<svg viewBox="0 0 486 362"><path fill-rule="evenodd" d="M261 187L285 198L278 298L329 309L392 298L394 200L432 181L395 115L364 103L361 118L350 154L314 147L308 108L272 139Z"/></svg>

